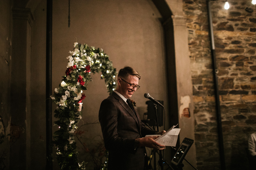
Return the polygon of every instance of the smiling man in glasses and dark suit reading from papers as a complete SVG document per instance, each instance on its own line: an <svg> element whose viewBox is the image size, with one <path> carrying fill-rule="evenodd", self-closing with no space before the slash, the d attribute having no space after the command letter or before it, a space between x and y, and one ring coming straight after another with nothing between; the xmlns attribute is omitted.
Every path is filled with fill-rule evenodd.
<svg viewBox="0 0 256 170"><path fill-rule="evenodd" d="M145 147L165 148L154 140L155 136L144 137L165 131L145 127L134 103L130 102L129 98L139 89L139 79L139 73L133 68L120 69L117 89L100 105L99 121L108 150L108 170L144 170L147 166Z"/></svg>

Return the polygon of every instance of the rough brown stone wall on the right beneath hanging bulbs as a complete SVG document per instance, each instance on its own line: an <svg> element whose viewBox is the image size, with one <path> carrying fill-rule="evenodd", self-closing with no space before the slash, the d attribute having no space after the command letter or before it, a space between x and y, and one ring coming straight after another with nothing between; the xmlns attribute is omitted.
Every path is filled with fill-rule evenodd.
<svg viewBox="0 0 256 170"><path fill-rule="evenodd" d="M256 131L256 12L251 0L211 1L226 169L247 169ZM245 10L252 8L253 12ZM205 0L183 0L195 106L197 168L220 169L211 46Z"/></svg>

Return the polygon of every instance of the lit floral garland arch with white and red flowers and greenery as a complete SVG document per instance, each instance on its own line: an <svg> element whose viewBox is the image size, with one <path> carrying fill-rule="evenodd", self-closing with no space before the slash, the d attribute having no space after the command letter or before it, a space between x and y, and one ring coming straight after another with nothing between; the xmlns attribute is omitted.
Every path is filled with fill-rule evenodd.
<svg viewBox="0 0 256 170"><path fill-rule="evenodd" d="M109 94L116 88L116 68L112 66L107 54L102 49L89 47L87 44L74 43L74 51L67 57L68 65L66 75L63 76L58 88L54 90L51 99L57 105L54 111L55 126L58 130L54 133L54 141L57 148L57 161L63 170L85 169L85 162L78 163L76 143L73 133L77 123L82 119L83 99L88 82L91 81L91 73L101 71L101 78Z"/></svg>

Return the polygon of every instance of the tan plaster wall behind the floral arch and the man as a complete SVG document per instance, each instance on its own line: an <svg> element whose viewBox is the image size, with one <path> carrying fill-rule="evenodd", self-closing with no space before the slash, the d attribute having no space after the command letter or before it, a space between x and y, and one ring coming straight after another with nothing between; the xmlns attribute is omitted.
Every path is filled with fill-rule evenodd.
<svg viewBox="0 0 256 170"><path fill-rule="evenodd" d="M32 116L31 135L34 144L31 147L34 154L38 146L43 154L35 153L35 158L43 163L44 159L44 91L45 91L45 16L46 2L41 1L34 11L31 77L36 81L31 83ZM95 48L102 48L113 61L117 70L124 66L135 68L141 75L138 91L132 96L136 101L140 117L147 112L147 99L144 93L149 93L157 100L167 101L166 66L163 28L159 21L161 15L152 1L118 1L94 0L70 2L70 27L68 27L68 1L53 2L53 91L58 87L67 69L67 56L73 51L74 42L86 43ZM108 93L100 74L92 75L83 101L83 119L78 128L85 131L83 142L90 144L85 138L96 137L100 140L101 130L98 122L98 110ZM53 111L56 106L53 104ZM166 127L169 128L168 106L165 105ZM55 119L54 119L55 121ZM54 124L54 123L53 123ZM89 124L94 124L93 126ZM160 127L162 130L163 127ZM53 132L56 127L53 128ZM41 136L41 137L40 137ZM39 145L38 145L39 144ZM79 161L87 158L83 145L77 141ZM55 153L54 148L54 153ZM168 151L166 159L170 159ZM81 160L82 159L82 160ZM89 160L86 160L89 162ZM57 162L54 162L58 168ZM33 164L40 169L39 165Z"/></svg>

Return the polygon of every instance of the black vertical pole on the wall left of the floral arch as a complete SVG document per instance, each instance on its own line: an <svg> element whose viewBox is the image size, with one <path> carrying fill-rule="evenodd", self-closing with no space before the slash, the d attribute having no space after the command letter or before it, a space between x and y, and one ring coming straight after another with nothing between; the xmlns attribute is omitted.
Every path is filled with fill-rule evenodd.
<svg viewBox="0 0 256 170"><path fill-rule="evenodd" d="M46 12L46 170L53 169L52 162L52 26L53 0L47 0Z"/></svg>

